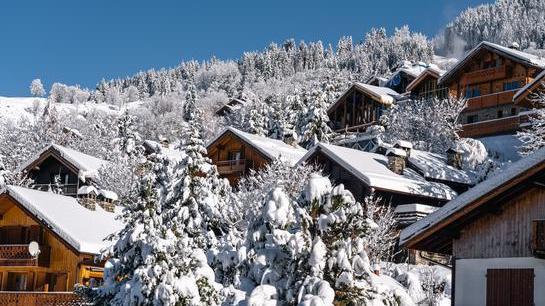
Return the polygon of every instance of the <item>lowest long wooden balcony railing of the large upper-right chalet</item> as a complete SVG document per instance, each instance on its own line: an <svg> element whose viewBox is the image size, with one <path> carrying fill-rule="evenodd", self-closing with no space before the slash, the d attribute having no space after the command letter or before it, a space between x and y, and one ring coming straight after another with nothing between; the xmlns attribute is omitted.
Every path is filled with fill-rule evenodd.
<svg viewBox="0 0 545 306"><path fill-rule="evenodd" d="M476 123L464 124L458 132L460 137L480 137L516 131L520 126L520 116L505 117L501 119L486 120Z"/></svg>

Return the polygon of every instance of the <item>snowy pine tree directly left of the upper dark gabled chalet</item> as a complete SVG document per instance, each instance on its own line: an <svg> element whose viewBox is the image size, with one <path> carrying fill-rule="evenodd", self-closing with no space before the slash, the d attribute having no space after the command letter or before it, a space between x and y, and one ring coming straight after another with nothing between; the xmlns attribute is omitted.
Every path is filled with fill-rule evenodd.
<svg viewBox="0 0 545 306"><path fill-rule="evenodd" d="M302 143L309 149L318 142L328 143L333 131L329 127L329 116L327 115L326 94L320 89L313 90L308 99L308 111L301 133Z"/></svg>

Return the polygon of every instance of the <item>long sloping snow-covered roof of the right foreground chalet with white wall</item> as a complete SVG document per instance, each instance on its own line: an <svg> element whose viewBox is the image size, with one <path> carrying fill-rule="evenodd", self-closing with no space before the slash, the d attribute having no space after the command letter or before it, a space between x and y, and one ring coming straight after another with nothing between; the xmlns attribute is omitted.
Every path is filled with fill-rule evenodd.
<svg viewBox="0 0 545 306"><path fill-rule="evenodd" d="M400 244L406 243L408 240L422 234L425 231L433 230L434 225L454 215L455 213L464 210L464 208L469 204L496 191L498 188L509 183L515 178L530 171L538 171L539 169L536 169L538 168L537 166L543 164L544 162L545 148L540 149L534 154L511 164L501 173L462 193L456 199L448 202L437 211L404 229L400 234ZM469 212L469 210L466 211L466 213Z"/></svg>

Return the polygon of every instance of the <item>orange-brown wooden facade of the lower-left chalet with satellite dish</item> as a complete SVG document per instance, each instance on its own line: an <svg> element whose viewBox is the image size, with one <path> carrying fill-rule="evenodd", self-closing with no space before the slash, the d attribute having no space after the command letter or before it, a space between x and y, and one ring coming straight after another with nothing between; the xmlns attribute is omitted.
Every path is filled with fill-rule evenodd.
<svg viewBox="0 0 545 306"><path fill-rule="evenodd" d="M0 291L71 292L101 282L103 265L93 254L79 253L7 194L0 214ZM37 259L28 253L31 241L40 245Z"/></svg>

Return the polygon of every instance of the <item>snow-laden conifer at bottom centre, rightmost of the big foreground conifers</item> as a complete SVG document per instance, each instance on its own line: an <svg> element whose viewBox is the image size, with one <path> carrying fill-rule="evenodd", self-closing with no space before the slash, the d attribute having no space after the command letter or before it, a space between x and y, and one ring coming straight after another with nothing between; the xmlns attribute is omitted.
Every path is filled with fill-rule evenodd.
<svg viewBox="0 0 545 306"><path fill-rule="evenodd" d="M313 175L304 194L312 216L314 277L335 289L340 305L396 305L391 292L377 291L367 253L368 239L377 225L343 185L331 187L329 179Z"/></svg>

